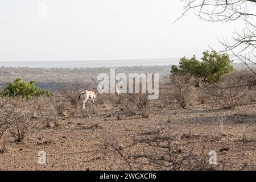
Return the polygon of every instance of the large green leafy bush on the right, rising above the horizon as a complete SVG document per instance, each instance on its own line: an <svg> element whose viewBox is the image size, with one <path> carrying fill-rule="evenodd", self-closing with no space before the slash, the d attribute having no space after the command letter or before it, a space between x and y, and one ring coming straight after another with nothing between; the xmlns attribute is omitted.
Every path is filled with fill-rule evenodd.
<svg viewBox="0 0 256 182"><path fill-rule="evenodd" d="M179 66L172 65L171 73L174 75L189 73L196 78L201 78L205 83L213 84L220 80L222 75L234 70L232 63L226 53L219 54L216 51L205 51L201 61L197 60L195 55L191 59L182 57Z"/></svg>

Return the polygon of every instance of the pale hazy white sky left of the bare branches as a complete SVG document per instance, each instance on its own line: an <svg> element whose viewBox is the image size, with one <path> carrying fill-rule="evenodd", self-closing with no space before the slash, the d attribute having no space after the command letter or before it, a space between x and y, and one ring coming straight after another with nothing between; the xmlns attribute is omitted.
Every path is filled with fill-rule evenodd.
<svg viewBox="0 0 256 182"><path fill-rule="evenodd" d="M179 0L0 0L0 60L200 57L241 29L192 13L173 23L182 7Z"/></svg>

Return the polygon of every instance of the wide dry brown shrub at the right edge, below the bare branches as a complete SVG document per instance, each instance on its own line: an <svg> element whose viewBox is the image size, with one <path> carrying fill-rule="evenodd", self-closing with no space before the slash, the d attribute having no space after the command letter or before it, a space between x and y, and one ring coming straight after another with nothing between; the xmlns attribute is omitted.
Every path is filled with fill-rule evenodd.
<svg viewBox="0 0 256 182"><path fill-rule="evenodd" d="M222 76L219 82L208 85L204 90L208 94L209 103L223 109L255 104L256 76L242 69Z"/></svg>

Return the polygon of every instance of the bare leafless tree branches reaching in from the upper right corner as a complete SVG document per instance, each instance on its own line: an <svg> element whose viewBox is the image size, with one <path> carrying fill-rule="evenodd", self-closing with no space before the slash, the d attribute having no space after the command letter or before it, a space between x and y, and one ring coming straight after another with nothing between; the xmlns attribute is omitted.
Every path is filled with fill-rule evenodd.
<svg viewBox="0 0 256 182"><path fill-rule="evenodd" d="M241 32L235 31L232 42L220 41L225 52L237 57L256 75L251 64L256 65L256 0L181 0L185 4L183 14L192 11L201 20L229 22L242 20ZM250 63L250 64L249 64Z"/></svg>

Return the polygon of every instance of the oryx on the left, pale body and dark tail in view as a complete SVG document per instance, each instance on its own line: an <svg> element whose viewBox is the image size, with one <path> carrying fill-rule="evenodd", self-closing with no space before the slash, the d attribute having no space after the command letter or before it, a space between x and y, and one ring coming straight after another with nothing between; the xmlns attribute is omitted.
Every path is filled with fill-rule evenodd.
<svg viewBox="0 0 256 182"><path fill-rule="evenodd" d="M95 81L92 77L90 77L96 84L97 84L97 88L93 88L90 90L84 90L80 96L82 98L82 110L85 110L85 102L88 100L88 98L90 98L93 103L94 103L94 99L96 98L97 94L99 93L98 90L101 92L101 86L98 85L97 81Z"/></svg>

